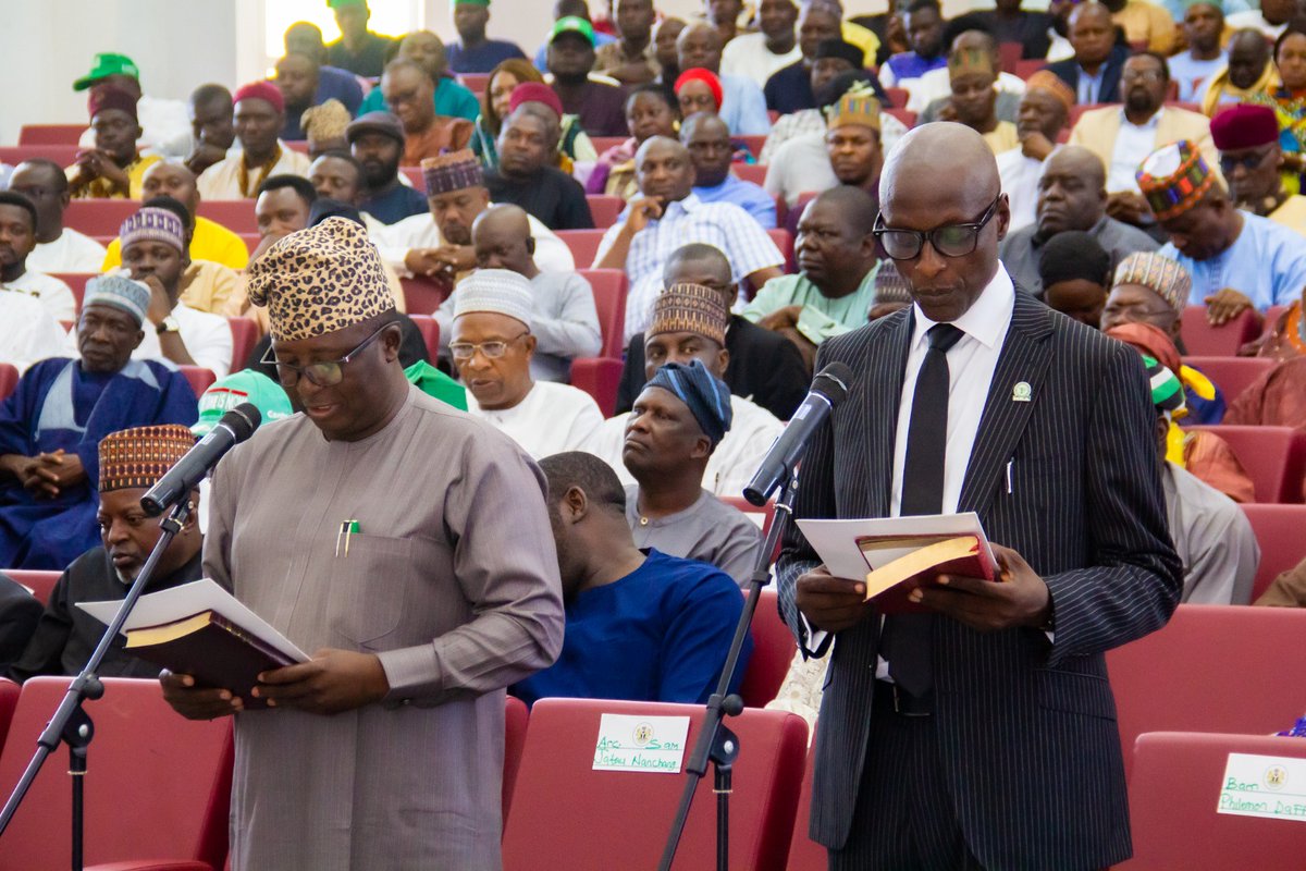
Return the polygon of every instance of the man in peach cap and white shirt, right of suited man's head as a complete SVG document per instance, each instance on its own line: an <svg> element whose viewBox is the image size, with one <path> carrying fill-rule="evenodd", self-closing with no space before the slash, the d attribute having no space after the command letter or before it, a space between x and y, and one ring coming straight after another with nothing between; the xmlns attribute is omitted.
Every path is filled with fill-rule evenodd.
<svg viewBox="0 0 1306 871"><path fill-rule="evenodd" d="M1016 121L1020 148L998 155L1002 192L1011 206L1007 232L1027 227L1037 218L1038 178L1043 161L1057 150L1057 137L1066 128L1074 104L1075 91L1046 69L1040 69L1025 82Z"/></svg>

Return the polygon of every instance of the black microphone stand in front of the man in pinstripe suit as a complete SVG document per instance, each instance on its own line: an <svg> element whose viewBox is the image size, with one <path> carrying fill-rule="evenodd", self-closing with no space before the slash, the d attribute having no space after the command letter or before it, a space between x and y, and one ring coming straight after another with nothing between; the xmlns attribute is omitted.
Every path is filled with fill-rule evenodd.
<svg viewBox="0 0 1306 871"><path fill-rule="evenodd" d="M776 545L780 542L786 524L793 518L791 505L797 492L798 473L794 471L776 498L776 515L771 529L767 530L763 550L757 554L752 577L748 578L748 598L744 601L743 614L739 615L739 622L735 624L730 653L726 654L726 663L721 669L717 691L708 697L708 716L703 721L703 729L699 731L690 759L684 764L687 774L684 791L680 793L680 807L677 810L675 821L667 833L662 861L658 863L660 871L671 871L675 850L680 845L684 824L690 819L693 794L699 789L699 781L708 772L709 761L713 770L712 791L717 794L717 871L727 871L730 866L730 791L734 761L739 756L739 738L721 721L726 716L738 717L743 713L743 699L730 692L730 682L734 680L735 669L739 665L739 654L743 650L744 639L748 637L752 615L757 610L757 599L761 598L761 588L771 582L771 555L776 552Z"/></svg>

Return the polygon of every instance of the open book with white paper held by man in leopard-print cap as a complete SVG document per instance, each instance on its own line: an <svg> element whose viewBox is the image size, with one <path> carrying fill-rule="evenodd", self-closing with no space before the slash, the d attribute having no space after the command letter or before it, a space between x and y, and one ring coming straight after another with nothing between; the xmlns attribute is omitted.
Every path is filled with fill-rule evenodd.
<svg viewBox="0 0 1306 871"><path fill-rule="evenodd" d="M120 599L78 602L77 607L106 626ZM188 674L199 687L221 687L240 696L246 708L265 706L249 691L260 671L307 662L303 650L204 578L148 593L123 626L127 649L176 674Z"/></svg>

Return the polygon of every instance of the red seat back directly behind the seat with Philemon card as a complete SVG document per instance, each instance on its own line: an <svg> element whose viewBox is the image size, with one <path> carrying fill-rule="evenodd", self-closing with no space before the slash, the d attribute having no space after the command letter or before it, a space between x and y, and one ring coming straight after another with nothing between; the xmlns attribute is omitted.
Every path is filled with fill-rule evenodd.
<svg viewBox="0 0 1306 871"><path fill-rule="evenodd" d="M1143 733L1292 726L1306 706L1306 673L1293 667L1303 637L1302 609L1181 605L1164 628L1107 650L1126 772Z"/></svg>

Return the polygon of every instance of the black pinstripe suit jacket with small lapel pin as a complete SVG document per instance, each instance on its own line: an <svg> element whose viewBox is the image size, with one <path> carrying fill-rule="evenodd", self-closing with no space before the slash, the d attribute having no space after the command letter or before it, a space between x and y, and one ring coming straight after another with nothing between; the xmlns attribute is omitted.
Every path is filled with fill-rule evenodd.
<svg viewBox="0 0 1306 871"><path fill-rule="evenodd" d="M827 341L858 380L818 432L797 517L887 517L909 307ZM1012 402L1027 381L1032 402ZM1136 351L1016 294L959 511L1047 582L1055 641L1028 628L934 623L935 726L947 786L974 855L993 868L1100 868L1130 855L1115 701L1102 653L1169 619L1182 573L1170 543L1147 377ZM1004 469L1012 466L1012 494ZM781 610L806 645L797 577L819 563L791 528ZM876 615L835 640L820 726L811 836L840 849L870 734ZM874 817L874 811L872 811Z"/></svg>

